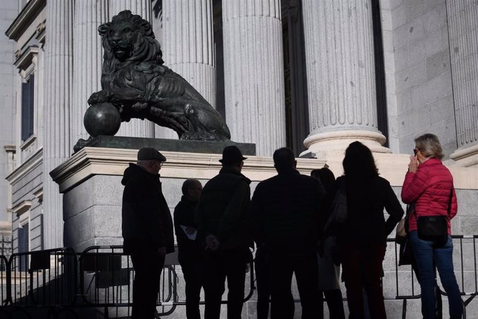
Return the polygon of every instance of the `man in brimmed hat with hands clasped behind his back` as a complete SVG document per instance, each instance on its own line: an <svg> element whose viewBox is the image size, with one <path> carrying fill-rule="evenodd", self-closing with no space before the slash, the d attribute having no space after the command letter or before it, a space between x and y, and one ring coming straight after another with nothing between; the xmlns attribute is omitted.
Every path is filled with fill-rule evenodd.
<svg viewBox="0 0 478 319"><path fill-rule="evenodd" d="M227 318L240 319L246 265L252 246L249 231L251 181L240 172L244 160L236 146L222 151L222 169L204 185L196 219L206 249L204 293L205 319L219 319L227 277Z"/></svg>

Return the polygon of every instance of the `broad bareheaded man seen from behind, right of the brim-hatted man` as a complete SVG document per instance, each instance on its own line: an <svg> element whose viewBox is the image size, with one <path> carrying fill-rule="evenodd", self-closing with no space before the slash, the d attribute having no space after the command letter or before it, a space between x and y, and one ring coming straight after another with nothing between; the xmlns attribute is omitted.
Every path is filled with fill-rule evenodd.
<svg viewBox="0 0 478 319"><path fill-rule="evenodd" d="M293 318L292 275L301 296L302 318L319 317L317 242L321 226L321 182L296 170L291 149L274 152L277 175L260 182L251 202L254 240L269 259L271 318Z"/></svg>

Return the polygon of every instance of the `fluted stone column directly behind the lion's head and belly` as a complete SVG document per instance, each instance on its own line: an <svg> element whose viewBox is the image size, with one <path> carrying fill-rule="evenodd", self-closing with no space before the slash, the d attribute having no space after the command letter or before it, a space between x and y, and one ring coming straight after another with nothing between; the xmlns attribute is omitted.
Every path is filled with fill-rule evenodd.
<svg viewBox="0 0 478 319"><path fill-rule="evenodd" d="M109 21L119 12L130 10L133 15L141 15L145 20L151 21L150 0L109 0ZM154 123L149 120L133 118L130 122L122 122L116 136L154 137Z"/></svg>

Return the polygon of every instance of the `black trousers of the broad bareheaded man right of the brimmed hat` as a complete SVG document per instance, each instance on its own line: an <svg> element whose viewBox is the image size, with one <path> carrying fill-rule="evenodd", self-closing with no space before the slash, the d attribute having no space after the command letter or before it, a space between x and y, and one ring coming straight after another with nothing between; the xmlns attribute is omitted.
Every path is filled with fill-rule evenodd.
<svg viewBox="0 0 478 319"><path fill-rule="evenodd" d="M301 298L302 319L319 318L319 296L317 253L284 256L270 255L271 318L294 318L294 300L290 298L292 275L295 273L297 289Z"/></svg>

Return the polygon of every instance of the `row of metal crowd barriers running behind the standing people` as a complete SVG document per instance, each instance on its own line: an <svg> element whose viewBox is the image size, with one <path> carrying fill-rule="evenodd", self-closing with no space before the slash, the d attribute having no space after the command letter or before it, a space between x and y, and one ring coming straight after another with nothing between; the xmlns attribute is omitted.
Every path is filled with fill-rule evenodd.
<svg viewBox="0 0 478 319"><path fill-rule="evenodd" d="M478 235L452 238L454 270L463 298L463 318L466 318L466 307L478 295ZM402 300L402 318L406 318L407 300L421 298L420 285L411 266L398 266L399 249L394 239L387 241L383 282L388 285L385 289L388 295L385 299ZM176 266L175 256L168 255L161 273L158 316L168 316L177 306L186 304L179 298L178 282L182 278L178 277ZM102 309L105 318L109 318L111 309L115 309L115 316L130 316L134 270L130 256L123 253L123 246L92 246L79 256L71 248L17 253L9 259L0 256L0 267L0 313L22 311L31 318L28 308L51 308L56 313L61 309L94 308ZM245 301L255 290L252 261L249 280ZM446 295L443 290L440 293ZM74 311L71 313L79 318Z"/></svg>

